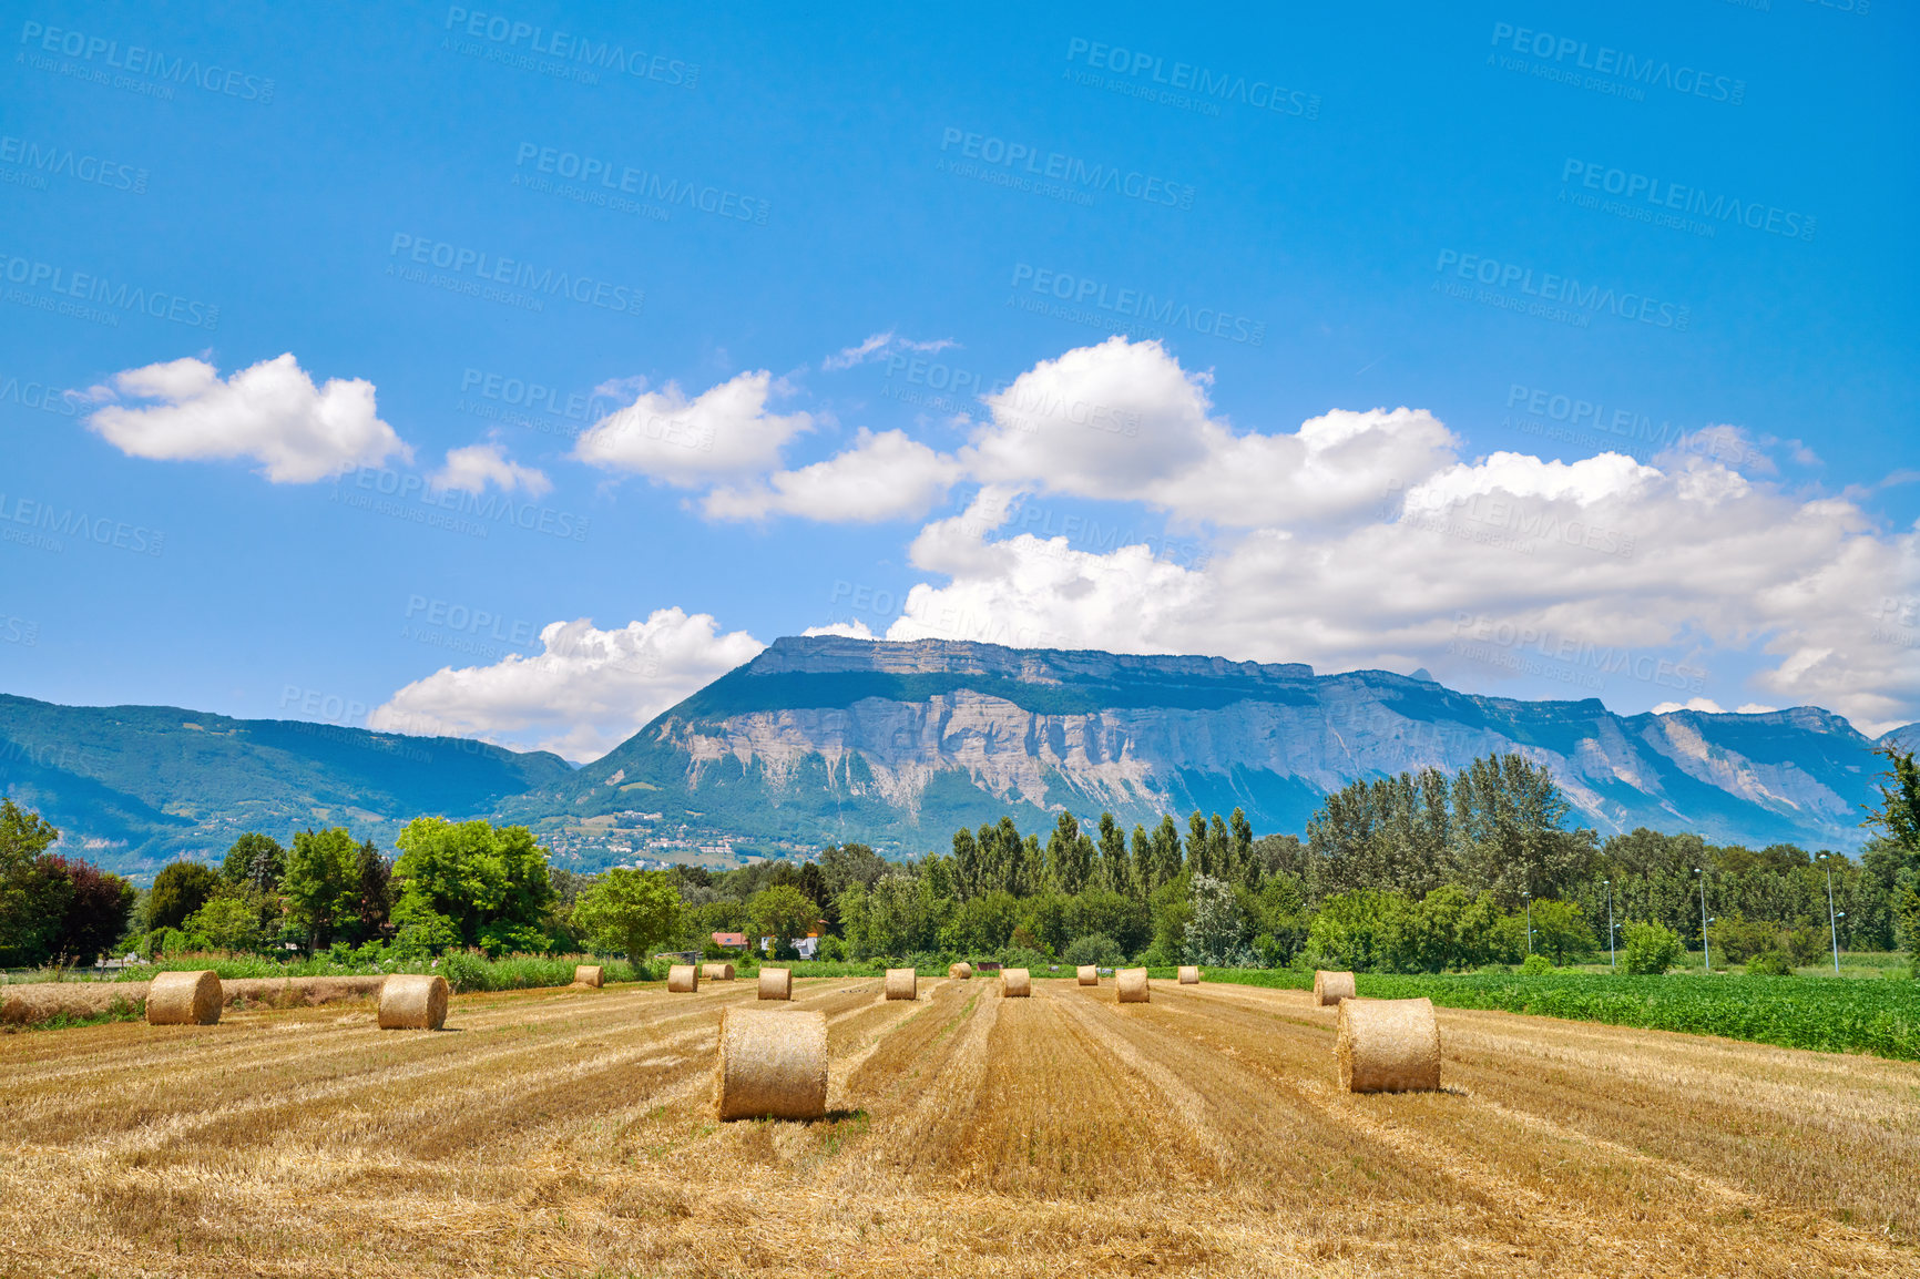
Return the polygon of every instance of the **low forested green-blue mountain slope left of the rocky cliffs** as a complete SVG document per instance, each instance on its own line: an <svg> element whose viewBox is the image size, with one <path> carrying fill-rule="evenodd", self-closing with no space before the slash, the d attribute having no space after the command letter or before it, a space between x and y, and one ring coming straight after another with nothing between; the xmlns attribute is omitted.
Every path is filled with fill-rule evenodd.
<svg viewBox="0 0 1920 1279"><path fill-rule="evenodd" d="M234 837L346 824L392 845L422 812L484 816L572 772L463 737L401 737L179 707L58 707L0 695L0 795L61 830L61 851L146 881Z"/></svg>

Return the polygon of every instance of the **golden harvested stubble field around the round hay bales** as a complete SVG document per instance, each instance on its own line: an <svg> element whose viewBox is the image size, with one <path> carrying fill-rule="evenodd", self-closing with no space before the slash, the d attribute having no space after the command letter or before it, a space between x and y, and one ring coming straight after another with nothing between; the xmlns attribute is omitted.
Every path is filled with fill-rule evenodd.
<svg viewBox="0 0 1920 1279"><path fill-rule="evenodd" d="M833 1114L722 1125L753 999L0 1037L0 1273L1920 1273L1916 1064L1442 1010L1444 1093L1348 1097L1296 991L841 977Z"/></svg>

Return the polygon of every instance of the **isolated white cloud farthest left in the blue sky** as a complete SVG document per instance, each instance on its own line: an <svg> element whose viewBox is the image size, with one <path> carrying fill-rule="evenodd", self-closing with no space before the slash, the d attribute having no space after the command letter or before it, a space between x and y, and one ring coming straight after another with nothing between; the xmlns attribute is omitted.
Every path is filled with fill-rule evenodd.
<svg viewBox="0 0 1920 1279"><path fill-rule="evenodd" d="M129 457L248 457L275 484L311 484L413 455L380 421L372 382L328 378L315 386L292 353L225 380L202 359L146 365L113 374L94 394L113 403L86 424Z"/></svg>

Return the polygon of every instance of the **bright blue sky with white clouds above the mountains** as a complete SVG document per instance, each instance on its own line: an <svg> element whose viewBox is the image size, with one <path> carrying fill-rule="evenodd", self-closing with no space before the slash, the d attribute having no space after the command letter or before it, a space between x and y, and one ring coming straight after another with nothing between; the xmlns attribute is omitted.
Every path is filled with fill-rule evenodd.
<svg viewBox="0 0 1920 1279"><path fill-rule="evenodd" d="M1920 718L1901 6L10 21L6 691L586 759L837 626Z"/></svg>

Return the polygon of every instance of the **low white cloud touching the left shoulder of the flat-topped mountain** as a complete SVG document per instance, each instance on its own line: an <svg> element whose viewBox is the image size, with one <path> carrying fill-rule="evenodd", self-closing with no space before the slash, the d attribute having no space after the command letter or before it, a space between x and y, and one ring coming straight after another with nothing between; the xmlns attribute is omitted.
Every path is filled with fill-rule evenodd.
<svg viewBox="0 0 1920 1279"><path fill-rule="evenodd" d="M657 609L616 630L589 618L549 622L540 641L534 655L415 680L374 709L369 726L597 759L766 647L743 630L722 634L710 613L682 609Z"/></svg>

